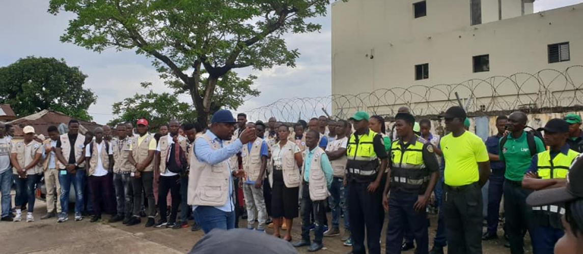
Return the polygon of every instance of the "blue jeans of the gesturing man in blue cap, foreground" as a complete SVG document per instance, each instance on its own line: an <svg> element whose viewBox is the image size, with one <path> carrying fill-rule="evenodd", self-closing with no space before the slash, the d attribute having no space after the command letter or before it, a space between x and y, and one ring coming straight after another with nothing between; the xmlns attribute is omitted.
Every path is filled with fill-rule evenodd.
<svg viewBox="0 0 583 254"><path fill-rule="evenodd" d="M198 206L195 209L195 221L202 231L208 234L215 228L230 230L235 228L235 212L224 212L214 206Z"/></svg>

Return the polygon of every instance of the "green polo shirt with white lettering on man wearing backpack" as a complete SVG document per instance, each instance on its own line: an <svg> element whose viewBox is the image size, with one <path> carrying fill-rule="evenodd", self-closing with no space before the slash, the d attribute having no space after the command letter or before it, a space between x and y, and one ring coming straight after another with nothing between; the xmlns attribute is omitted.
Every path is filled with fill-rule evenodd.
<svg viewBox="0 0 583 254"><path fill-rule="evenodd" d="M502 139L500 139L501 141ZM545 151L545 144L540 138L535 136L536 153ZM528 149L526 132L518 138L508 134L508 139L504 147L500 147L500 161L506 164L504 177L511 181L522 181L522 177L531 165L531 151Z"/></svg>

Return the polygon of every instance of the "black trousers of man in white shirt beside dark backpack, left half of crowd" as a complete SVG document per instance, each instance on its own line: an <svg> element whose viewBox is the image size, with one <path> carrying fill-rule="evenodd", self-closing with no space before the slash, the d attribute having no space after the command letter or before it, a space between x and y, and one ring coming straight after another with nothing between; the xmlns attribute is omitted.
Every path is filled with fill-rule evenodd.
<svg viewBox="0 0 583 254"><path fill-rule="evenodd" d="M167 206L166 196L170 191L172 198L172 208L170 210L170 222L176 222L178 206L180 206L180 176L160 176L158 185L158 208L160 209L160 220L166 220Z"/></svg>

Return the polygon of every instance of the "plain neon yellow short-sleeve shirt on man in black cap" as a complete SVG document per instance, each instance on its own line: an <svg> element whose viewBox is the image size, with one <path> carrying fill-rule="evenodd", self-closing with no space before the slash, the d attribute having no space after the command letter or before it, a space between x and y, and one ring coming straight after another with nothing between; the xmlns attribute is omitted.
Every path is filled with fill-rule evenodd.
<svg viewBox="0 0 583 254"><path fill-rule="evenodd" d="M489 160L482 138L469 131L459 137L449 133L441 138L440 145L445 159L445 184L458 187L480 180L477 163Z"/></svg>

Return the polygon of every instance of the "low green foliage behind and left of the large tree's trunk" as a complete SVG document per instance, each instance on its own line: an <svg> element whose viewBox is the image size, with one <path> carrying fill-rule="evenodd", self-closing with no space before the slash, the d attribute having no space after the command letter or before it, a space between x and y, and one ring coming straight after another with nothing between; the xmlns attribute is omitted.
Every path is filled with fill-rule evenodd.
<svg viewBox="0 0 583 254"><path fill-rule="evenodd" d="M147 87L149 84L142 86ZM113 113L119 117L111 120L108 123L110 126L126 121L135 125L136 120L141 118L147 119L151 128L158 128L172 119L181 123L196 120L196 111L191 105L178 101L176 96L167 92L156 94L150 90L147 94L135 94L131 98L125 98L124 101L114 103L112 108Z"/></svg>

